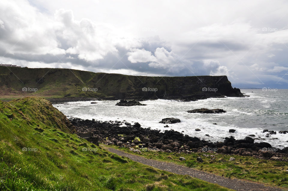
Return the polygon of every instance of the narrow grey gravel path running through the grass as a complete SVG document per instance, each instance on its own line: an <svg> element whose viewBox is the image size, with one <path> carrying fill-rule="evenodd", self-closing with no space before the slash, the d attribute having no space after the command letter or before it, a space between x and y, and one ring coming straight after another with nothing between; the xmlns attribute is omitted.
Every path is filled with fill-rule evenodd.
<svg viewBox="0 0 288 191"><path fill-rule="evenodd" d="M174 163L166 163L166 162L161 162L157 160L147 159L138 155L128 154L128 153L119 151L114 148L109 148L109 147L104 147L104 148L112 153L118 154L119 156L128 157L129 159L136 161L138 163L149 165L149 166L152 166L157 169L164 170L164 171L173 172L179 175L190 175L192 177L199 178L203 181L211 182L214 184L219 184L220 186L230 188L233 190L245 190L245 191L246 190L265 190L265 191L266 190L267 191L282 190L277 187L268 187L268 186L265 186L264 184L254 183L250 181L244 181L244 180L239 180L239 179L229 179L229 178L221 177L218 175L214 175L212 173L203 172L203 171L192 169L189 167L177 165ZM288 190L288 189L283 189L283 190Z"/></svg>

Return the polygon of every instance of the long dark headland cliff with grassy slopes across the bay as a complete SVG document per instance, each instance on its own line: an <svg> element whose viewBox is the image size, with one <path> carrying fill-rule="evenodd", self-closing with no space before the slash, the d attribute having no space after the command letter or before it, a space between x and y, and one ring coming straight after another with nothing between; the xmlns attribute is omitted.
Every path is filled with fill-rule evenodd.
<svg viewBox="0 0 288 191"><path fill-rule="evenodd" d="M105 99L243 97L227 76L148 77L58 68L0 67L0 95Z"/></svg>

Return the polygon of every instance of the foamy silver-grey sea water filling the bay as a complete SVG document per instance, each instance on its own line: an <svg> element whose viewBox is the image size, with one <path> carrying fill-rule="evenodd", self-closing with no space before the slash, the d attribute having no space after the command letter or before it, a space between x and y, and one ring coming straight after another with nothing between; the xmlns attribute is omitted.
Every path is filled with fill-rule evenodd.
<svg viewBox="0 0 288 191"><path fill-rule="evenodd" d="M138 122L141 127L183 132L212 142L224 141L225 137L235 136L242 139L254 134L255 142L268 142L277 148L288 146L288 133L280 134L280 130L288 130L288 90L262 91L262 89L243 89L242 93L250 97L209 98L194 102L179 102L174 100L148 100L141 103L147 106L115 106L119 101L69 102L54 106L64 115L82 119L100 121L123 121L131 124ZM222 114L188 113L187 110L208 108L224 109ZM158 123L162 118L179 118L181 123ZM213 123L217 123L214 125ZM166 124L165 124L166 125ZM199 128L201 131L195 131ZM235 129L235 133L229 133ZM265 137L264 129L277 131L276 135ZM205 136L209 134L210 137ZM276 139L277 138L277 139Z"/></svg>

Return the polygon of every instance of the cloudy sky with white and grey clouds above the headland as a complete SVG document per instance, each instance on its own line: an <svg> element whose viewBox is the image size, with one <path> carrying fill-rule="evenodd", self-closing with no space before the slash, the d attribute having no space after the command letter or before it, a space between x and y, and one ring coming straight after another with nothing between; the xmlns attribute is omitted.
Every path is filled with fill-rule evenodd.
<svg viewBox="0 0 288 191"><path fill-rule="evenodd" d="M1 0L0 63L288 88L288 1Z"/></svg>

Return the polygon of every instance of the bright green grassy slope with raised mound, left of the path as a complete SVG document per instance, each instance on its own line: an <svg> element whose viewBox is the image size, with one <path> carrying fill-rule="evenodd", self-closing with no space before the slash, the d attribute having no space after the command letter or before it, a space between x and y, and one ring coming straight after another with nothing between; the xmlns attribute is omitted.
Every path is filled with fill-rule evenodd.
<svg viewBox="0 0 288 191"><path fill-rule="evenodd" d="M113 155L69 125L44 99L0 101L0 190L226 190Z"/></svg>

